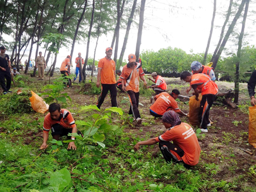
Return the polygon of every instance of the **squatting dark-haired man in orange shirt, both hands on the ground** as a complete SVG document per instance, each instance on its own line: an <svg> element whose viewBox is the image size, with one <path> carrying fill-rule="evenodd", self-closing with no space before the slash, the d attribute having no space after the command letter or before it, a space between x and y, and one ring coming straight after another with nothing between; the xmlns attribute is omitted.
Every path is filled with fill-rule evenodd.
<svg viewBox="0 0 256 192"><path fill-rule="evenodd" d="M67 136L67 139L75 140L75 137L68 136L69 133L78 133L77 126L75 125L74 118L70 111L66 109L61 109L58 103L51 103L49 106L49 112L43 121L43 144L40 149L47 148L47 140L49 137L49 131L51 130L51 135L53 139L59 141L59 137ZM82 135L82 134L81 134ZM77 150L74 142L70 142L67 149Z"/></svg>

